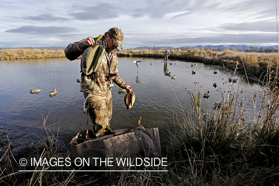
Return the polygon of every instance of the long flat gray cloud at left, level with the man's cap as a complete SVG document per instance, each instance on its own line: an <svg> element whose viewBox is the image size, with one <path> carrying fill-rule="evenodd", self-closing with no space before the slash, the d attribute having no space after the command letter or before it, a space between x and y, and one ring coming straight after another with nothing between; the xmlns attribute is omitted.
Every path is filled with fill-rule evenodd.
<svg viewBox="0 0 279 186"><path fill-rule="evenodd" d="M9 33L24 33L32 35L57 35L62 33L71 33L80 31L78 28L68 27L68 26L21 26L19 28L14 28L6 30Z"/></svg>

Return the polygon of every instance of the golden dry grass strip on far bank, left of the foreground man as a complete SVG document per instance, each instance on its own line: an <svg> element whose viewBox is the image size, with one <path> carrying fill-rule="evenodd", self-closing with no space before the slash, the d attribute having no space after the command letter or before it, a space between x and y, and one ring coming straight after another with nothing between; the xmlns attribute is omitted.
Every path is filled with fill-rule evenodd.
<svg viewBox="0 0 279 186"><path fill-rule="evenodd" d="M2 59L34 59L34 58L54 58L65 57L64 50L46 49L1 49L0 58Z"/></svg>

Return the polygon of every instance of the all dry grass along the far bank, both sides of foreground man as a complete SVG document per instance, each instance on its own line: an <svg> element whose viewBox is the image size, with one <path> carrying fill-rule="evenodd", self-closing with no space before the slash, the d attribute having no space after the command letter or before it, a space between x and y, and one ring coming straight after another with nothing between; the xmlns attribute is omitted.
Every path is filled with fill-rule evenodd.
<svg viewBox="0 0 279 186"><path fill-rule="evenodd" d="M118 57L154 57L163 60L165 50L121 50L117 52ZM2 49L0 58L2 59L34 59L34 58L54 58L65 57L64 50L46 49ZM182 59L202 62L205 64L224 66L234 70L238 63L238 72L251 74L259 78L261 74L270 69L274 74L278 66L277 53L257 53L257 52L238 52L235 50L224 50L223 52L212 51L210 49L172 49L169 59Z"/></svg>

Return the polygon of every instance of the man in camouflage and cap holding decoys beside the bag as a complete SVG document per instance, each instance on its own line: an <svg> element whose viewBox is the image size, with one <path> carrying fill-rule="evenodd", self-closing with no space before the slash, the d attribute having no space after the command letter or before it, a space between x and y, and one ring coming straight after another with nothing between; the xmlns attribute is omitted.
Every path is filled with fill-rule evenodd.
<svg viewBox="0 0 279 186"><path fill-rule="evenodd" d="M105 49L104 54L98 58L100 64L97 65L95 71L86 74L83 69L81 70L80 91L83 92L85 99L87 98L83 112L88 112L93 123L93 131L97 136L106 132L112 117L112 81L119 87L126 89L127 92L132 91L132 87L124 82L117 70L118 58L115 52L119 51L117 47L122 49L123 32L114 27L98 39L88 37L69 44L65 49L65 55L69 60L82 58L81 62L83 62L83 55L87 55L84 54L88 51L86 49L94 48L95 43Z"/></svg>

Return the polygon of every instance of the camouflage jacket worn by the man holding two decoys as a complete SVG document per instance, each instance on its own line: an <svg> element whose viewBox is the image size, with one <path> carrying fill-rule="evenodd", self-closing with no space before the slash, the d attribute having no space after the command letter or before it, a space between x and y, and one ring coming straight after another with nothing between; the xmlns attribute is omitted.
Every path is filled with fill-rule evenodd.
<svg viewBox="0 0 279 186"><path fill-rule="evenodd" d="M85 39L71 43L69 44L65 51L66 57L73 61L75 59L81 59L83 52L87 48L84 45ZM107 43L105 42L104 36L101 38L102 43L106 46ZM107 56L110 58L112 55L111 65L110 65L110 73L115 74L111 77L112 81L116 83L119 87L126 89L127 83L124 82L124 80L119 76L118 74L118 58L115 53L109 53L106 49L105 53L107 53ZM93 90L94 95L99 96L106 96L109 95L110 89L108 88L108 85L110 84L110 81L105 81L106 74L109 74L109 66L106 55L103 55L102 61L100 63L100 66L98 67L97 72L93 72L91 74L85 75L83 72L81 73L81 82L80 82L80 91L90 93ZM90 87L88 88L88 84L90 81L92 81Z"/></svg>

